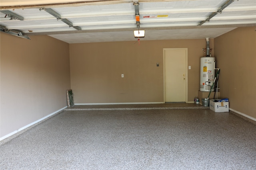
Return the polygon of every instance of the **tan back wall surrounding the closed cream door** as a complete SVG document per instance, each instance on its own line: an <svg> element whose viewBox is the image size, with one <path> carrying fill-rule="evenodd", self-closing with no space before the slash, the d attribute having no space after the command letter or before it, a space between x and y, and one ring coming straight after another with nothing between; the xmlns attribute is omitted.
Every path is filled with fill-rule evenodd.
<svg viewBox="0 0 256 170"><path fill-rule="evenodd" d="M164 48L188 48L188 102L194 100L205 39L135 42L70 44L71 88L76 104L163 102ZM210 47L214 47L213 39Z"/></svg>

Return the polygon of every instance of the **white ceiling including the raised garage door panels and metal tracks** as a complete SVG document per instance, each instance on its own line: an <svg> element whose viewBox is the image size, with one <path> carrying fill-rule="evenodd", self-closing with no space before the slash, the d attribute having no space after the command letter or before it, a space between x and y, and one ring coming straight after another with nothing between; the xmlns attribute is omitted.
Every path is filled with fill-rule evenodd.
<svg viewBox="0 0 256 170"><path fill-rule="evenodd" d="M1 0L0 18L1 31L67 43L136 41L138 28L141 41L201 39L256 26L256 0Z"/></svg>

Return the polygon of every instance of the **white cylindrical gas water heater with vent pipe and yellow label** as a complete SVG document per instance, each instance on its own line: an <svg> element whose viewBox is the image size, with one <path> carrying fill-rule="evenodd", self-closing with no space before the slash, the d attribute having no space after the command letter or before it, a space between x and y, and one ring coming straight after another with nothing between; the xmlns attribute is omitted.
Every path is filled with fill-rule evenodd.
<svg viewBox="0 0 256 170"><path fill-rule="evenodd" d="M206 45L206 56L200 58L200 91L210 92L212 90L213 92L215 57L211 57L210 55L209 38L206 38Z"/></svg>

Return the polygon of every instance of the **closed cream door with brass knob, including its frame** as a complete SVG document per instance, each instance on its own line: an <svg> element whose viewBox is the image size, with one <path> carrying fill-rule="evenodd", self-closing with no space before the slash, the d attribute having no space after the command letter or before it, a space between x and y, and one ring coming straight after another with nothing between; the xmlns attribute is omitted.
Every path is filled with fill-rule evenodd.
<svg viewBox="0 0 256 170"><path fill-rule="evenodd" d="M164 49L164 102L188 102L187 51Z"/></svg>

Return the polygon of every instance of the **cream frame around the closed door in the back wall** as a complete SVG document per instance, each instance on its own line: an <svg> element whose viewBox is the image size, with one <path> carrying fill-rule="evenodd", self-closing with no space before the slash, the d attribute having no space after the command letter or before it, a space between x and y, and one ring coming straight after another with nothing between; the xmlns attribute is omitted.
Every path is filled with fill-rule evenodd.
<svg viewBox="0 0 256 170"><path fill-rule="evenodd" d="M185 92L185 100L186 100L186 103L188 103L188 48L163 48L163 72L164 72L164 103L165 103L165 55L164 55L164 52L165 50L170 50L170 49L173 49L173 50L176 50L176 49L184 49L186 50L186 92Z"/></svg>

